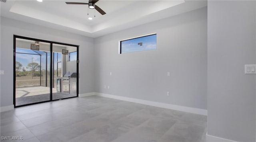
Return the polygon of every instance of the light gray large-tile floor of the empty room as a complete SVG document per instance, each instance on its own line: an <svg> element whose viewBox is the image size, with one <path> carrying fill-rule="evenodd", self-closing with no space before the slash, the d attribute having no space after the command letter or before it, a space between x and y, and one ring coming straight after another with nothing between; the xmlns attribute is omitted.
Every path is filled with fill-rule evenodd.
<svg viewBox="0 0 256 142"><path fill-rule="evenodd" d="M90 96L19 107L0 122L1 136L22 136L19 142L204 142L206 119Z"/></svg>

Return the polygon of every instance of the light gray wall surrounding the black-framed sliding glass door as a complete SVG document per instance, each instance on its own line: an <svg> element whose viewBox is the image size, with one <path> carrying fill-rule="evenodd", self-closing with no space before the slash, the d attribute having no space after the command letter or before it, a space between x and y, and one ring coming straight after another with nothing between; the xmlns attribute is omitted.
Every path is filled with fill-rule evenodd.
<svg viewBox="0 0 256 142"><path fill-rule="evenodd" d="M1 17L1 107L13 104L13 35L80 45L79 93L94 92L94 39Z"/></svg>

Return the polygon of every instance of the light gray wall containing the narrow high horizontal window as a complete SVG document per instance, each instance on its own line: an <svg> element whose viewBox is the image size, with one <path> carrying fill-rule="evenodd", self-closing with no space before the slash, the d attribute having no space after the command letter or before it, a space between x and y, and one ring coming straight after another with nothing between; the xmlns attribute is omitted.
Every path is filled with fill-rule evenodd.
<svg viewBox="0 0 256 142"><path fill-rule="evenodd" d="M149 33L157 33L157 50L118 54L119 40ZM98 37L94 46L96 92L207 109L206 7Z"/></svg>

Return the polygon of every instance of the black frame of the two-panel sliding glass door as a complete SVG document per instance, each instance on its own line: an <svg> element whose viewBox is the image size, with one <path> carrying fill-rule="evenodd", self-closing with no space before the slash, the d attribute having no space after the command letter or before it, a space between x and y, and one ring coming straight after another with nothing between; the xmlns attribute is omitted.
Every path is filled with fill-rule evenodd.
<svg viewBox="0 0 256 142"><path fill-rule="evenodd" d="M16 38L19 39L27 39L27 40L32 40L32 41L41 41L41 42L45 42L45 43L50 43L50 100L49 101L41 101L41 102L36 102L36 103L29 103L26 105L19 105L16 106ZM72 46L72 47L76 47L76 51L77 51L77 55L76 55L76 96L78 97L78 90L79 90L79 86L78 86L78 78L79 78L79 70L78 70L78 63L79 63L79 45L71 45L71 44L67 44L67 43L59 43L59 42L55 42L55 41L47 41L47 40L42 40L42 39L34 39L34 38L30 38L30 37L23 37L23 36L19 36L19 35L13 35L13 105L14 107L23 107L23 106L27 106L27 105L34 105L34 104L38 104L38 103L45 103L45 102L50 102L50 101L58 101L58 99L56 100L52 100L52 45L53 44L59 44L59 45L66 45L66 46ZM69 99L69 98L73 98L73 97L67 97L67 98L63 98L63 99Z"/></svg>

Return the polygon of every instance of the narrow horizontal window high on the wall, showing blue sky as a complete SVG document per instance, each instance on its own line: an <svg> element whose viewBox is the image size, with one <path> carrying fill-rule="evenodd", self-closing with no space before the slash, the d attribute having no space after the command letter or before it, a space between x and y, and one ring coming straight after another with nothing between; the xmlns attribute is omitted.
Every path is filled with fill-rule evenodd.
<svg viewBox="0 0 256 142"><path fill-rule="evenodd" d="M156 33L120 41L120 54L156 49Z"/></svg>

